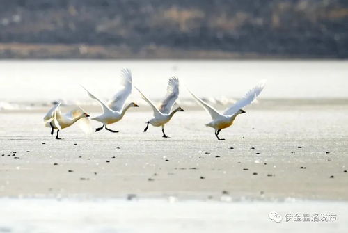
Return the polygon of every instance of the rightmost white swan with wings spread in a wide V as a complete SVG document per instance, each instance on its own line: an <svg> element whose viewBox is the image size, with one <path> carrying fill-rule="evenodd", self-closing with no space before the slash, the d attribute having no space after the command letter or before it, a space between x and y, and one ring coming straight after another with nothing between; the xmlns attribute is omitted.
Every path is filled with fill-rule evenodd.
<svg viewBox="0 0 348 233"><path fill-rule="evenodd" d="M223 138L219 138L219 133L221 129L225 129L227 127L230 127L233 122L235 121L235 118L237 115L245 113L245 111L242 109L244 106L247 106L248 104L251 104L258 95L260 95L262 89L264 88L266 84L266 80L260 81L256 86L251 88L251 90L248 90L246 95L242 99L239 99L239 101L232 106L228 107L223 114L219 113L214 109L214 107L210 106L206 102L204 102L202 99L196 97L191 91L189 90L189 93L193 96L194 99L203 106L205 110L210 114L212 117L212 122L209 122L208 124L205 124L207 127L212 127L215 129L215 136L218 138L218 140L225 140Z"/></svg>

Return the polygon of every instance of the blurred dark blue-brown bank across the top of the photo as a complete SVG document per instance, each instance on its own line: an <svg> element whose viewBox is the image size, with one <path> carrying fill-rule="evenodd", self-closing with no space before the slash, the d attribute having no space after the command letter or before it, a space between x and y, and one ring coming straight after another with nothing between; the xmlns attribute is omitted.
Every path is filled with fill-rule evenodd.
<svg viewBox="0 0 348 233"><path fill-rule="evenodd" d="M347 0L0 0L0 58L348 58Z"/></svg>

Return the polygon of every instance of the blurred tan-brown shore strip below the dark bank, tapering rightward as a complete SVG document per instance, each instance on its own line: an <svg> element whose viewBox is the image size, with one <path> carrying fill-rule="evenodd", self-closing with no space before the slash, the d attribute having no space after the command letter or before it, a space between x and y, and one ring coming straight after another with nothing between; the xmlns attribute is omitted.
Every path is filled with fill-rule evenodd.
<svg viewBox="0 0 348 233"><path fill-rule="evenodd" d="M84 45L84 44L32 44L32 43L0 43L0 60L65 60L65 59L148 59L148 60L342 60L335 56L315 55L285 55L285 54L258 54L241 53L209 49L175 49L170 47L147 46L141 49L116 45Z"/></svg>

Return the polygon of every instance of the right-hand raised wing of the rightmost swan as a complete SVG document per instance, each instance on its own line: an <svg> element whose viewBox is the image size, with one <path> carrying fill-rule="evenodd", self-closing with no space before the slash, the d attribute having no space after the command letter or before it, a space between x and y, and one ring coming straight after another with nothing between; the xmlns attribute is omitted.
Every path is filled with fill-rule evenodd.
<svg viewBox="0 0 348 233"><path fill-rule="evenodd" d="M248 90L248 92L244 95L242 99L239 99L239 101L232 106L228 107L228 109L225 110L223 115L234 115L239 111L239 109L244 108L244 106L251 104L258 95L260 95L261 91L263 90L264 86L266 85L267 80L262 80L256 86Z"/></svg>

